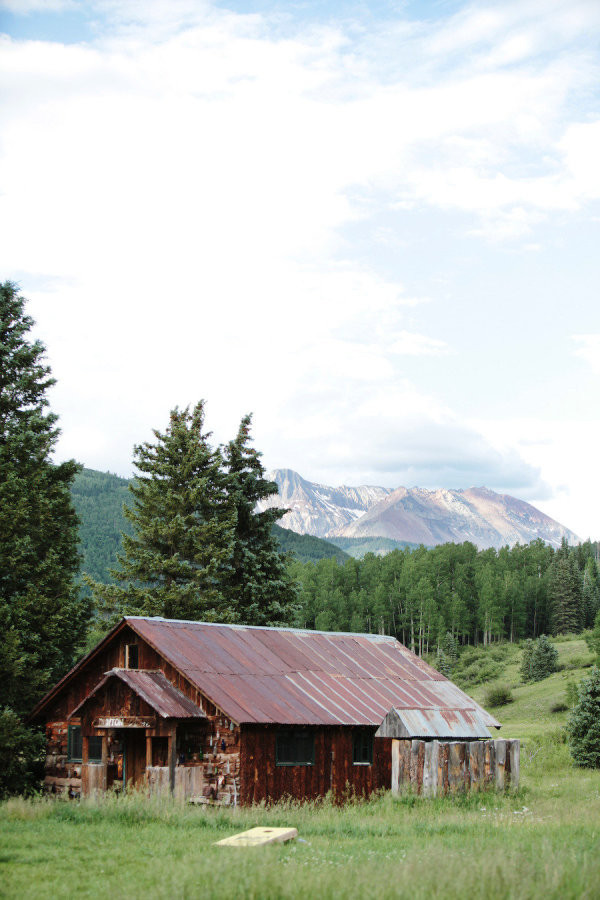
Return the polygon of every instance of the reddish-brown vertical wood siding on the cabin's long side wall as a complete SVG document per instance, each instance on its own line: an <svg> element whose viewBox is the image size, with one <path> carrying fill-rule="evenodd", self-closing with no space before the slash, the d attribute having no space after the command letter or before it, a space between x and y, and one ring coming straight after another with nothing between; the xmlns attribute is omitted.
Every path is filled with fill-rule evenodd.
<svg viewBox="0 0 600 900"><path fill-rule="evenodd" d="M279 766L276 762L276 725L245 725L241 730L241 796L244 805L284 797L312 800L332 791L338 799L348 794L369 796L391 782L391 740L377 738L373 763L352 761L350 727L315 727L313 765ZM375 730L375 729L373 729Z"/></svg>

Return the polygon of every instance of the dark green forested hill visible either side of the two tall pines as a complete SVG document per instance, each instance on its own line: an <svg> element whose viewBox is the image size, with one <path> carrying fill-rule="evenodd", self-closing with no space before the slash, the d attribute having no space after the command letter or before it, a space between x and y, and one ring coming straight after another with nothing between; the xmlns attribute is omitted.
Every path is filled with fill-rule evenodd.
<svg viewBox="0 0 600 900"><path fill-rule="evenodd" d="M121 532L131 533L123 515L123 504L131 494L129 481L110 472L83 469L75 477L72 496L79 527L80 550L83 555L82 572L96 581L110 581L109 570L117 561L121 546ZM287 528L274 526L274 533L284 553L293 553L302 562L334 557L339 562L348 559L333 544L311 535L296 534Z"/></svg>

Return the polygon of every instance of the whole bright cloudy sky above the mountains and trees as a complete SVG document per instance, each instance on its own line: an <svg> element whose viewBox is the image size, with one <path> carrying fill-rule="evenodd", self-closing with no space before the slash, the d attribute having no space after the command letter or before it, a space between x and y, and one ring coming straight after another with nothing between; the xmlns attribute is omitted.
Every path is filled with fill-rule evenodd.
<svg viewBox="0 0 600 900"><path fill-rule="evenodd" d="M0 277L57 458L206 400L267 468L600 538L600 3L0 0Z"/></svg>

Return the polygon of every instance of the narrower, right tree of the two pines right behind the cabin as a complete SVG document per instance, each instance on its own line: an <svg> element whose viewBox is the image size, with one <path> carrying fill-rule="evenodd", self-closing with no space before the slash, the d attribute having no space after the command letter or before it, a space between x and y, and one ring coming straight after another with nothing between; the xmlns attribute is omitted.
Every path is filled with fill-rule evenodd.
<svg viewBox="0 0 600 900"><path fill-rule="evenodd" d="M227 490L236 511L232 564L224 592L238 621L284 624L289 623L297 600L285 557L273 535L273 525L285 510L256 510L259 501L277 493L277 485L265 478L261 453L250 446L251 423L252 417L244 416L223 454Z"/></svg>

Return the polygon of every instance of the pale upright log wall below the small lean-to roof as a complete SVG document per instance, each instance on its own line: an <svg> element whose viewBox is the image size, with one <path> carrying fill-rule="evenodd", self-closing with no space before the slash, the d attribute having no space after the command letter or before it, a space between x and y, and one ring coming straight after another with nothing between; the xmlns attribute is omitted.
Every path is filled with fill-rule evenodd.
<svg viewBox="0 0 600 900"><path fill-rule="evenodd" d="M519 786L520 743L495 741L391 742L391 788L411 788L418 794L504 790Z"/></svg>

